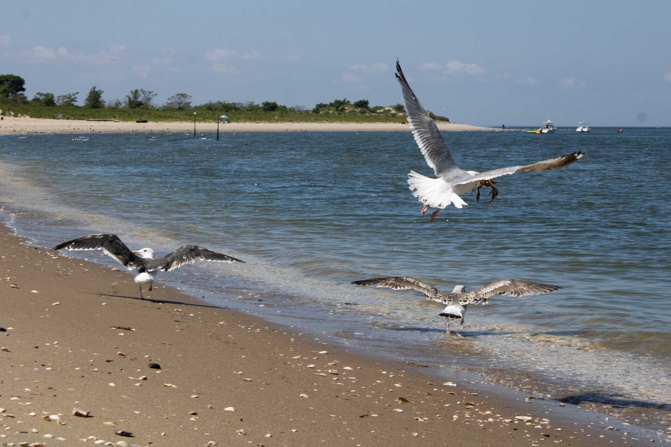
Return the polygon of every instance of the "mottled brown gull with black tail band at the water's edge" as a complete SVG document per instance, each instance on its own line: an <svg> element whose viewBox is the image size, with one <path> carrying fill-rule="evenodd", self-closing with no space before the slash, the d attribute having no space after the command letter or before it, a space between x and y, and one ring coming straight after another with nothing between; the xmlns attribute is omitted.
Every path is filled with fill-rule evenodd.
<svg viewBox="0 0 671 447"><path fill-rule="evenodd" d="M535 283L523 279L501 279L500 281L483 285L473 292L466 292L464 285L456 285L454 290L448 293L441 292L433 287L433 285L419 281L419 279L405 276L363 279L362 281L352 281L352 284L389 287L393 290L419 290L427 300L437 301L445 305L443 312L440 312L438 315L448 319L448 334L450 334L451 320L459 320L461 318L459 325L464 324L464 316L466 315L468 304L478 304L480 301L482 301L482 304L487 304L489 297L495 295L527 296L547 294L548 292L561 289L558 285ZM459 337L462 336L458 332L454 333Z"/></svg>

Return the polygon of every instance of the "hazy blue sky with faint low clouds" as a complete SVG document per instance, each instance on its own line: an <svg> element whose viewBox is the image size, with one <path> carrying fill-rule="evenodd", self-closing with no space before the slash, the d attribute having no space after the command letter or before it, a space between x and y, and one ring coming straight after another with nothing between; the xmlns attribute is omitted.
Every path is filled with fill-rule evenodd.
<svg viewBox="0 0 671 447"><path fill-rule="evenodd" d="M209 100L401 101L476 125L671 126L671 2L3 3L0 74ZM11 19L10 19L11 18Z"/></svg>

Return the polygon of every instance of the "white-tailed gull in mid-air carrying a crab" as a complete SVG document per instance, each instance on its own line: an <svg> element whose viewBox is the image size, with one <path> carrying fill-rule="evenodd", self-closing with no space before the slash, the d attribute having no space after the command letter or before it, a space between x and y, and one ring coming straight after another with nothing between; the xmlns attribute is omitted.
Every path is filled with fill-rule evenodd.
<svg viewBox="0 0 671 447"><path fill-rule="evenodd" d="M480 201L480 188L486 186L491 188L491 200L493 202L499 190L494 187L496 183L493 178L514 174L515 172L546 171L551 169L563 168L582 158L582 152L573 152L560 157L550 158L543 162L538 162L526 166L511 166L509 168L499 168L486 172L464 171L461 170L454 159L448 146L445 144L440 131L435 125L429 113L422 107L415 96L408 81L403 76L401 64L396 61L396 78L401 84L403 92L403 101L405 101L405 110L407 111L408 123L413 131L413 136L419 150L424 155L426 163L437 178L429 178L411 171L408 174L408 184L413 196L419 198L419 202L424 204L421 210L423 216L426 210L431 206L435 210L431 213L431 220L435 218L439 210L442 210L450 203L457 208L466 205L466 202L459 196L466 194L473 188L477 188L476 201Z"/></svg>

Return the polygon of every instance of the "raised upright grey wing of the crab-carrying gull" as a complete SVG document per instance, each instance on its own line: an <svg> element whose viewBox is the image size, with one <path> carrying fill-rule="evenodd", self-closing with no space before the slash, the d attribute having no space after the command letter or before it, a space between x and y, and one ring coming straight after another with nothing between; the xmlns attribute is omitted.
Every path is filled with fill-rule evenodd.
<svg viewBox="0 0 671 447"><path fill-rule="evenodd" d="M436 176L441 176L453 170L457 166L454 163L454 159L452 159L450 150L445 144L443 137L440 136L437 125L435 125L429 113L419 103L413 89L410 88L398 60L396 61L396 79L401 84L401 92L403 92L403 101L405 102L405 111L410 129L413 131L413 137L415 137L415 141L417 141L419 150L424 155L427 165L433 168Z"/></svg>

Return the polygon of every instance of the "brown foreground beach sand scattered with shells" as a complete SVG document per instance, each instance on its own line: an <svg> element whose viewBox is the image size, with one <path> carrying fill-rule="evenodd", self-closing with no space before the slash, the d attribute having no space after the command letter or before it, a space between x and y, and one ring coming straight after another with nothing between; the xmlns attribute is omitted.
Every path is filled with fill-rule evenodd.
<svg viewBox="0 0 671 447"><path fill-rule="evenodd" d="M138 300L128 273L21 242L0 227L3 445L602 446L645 440L627 436L626 427L605 430L604 422L595 422L603 414L544 399L527 403L500 394L496 385L486 385L486 392L469 383L450 385L431 367L353 355L318 335L160 285ZM73 416L75 407L89 417ZM578 412L585 415L580 423ZM44 420L53 414L62 425Z"/></svg>

